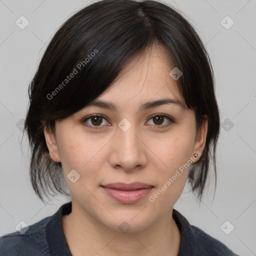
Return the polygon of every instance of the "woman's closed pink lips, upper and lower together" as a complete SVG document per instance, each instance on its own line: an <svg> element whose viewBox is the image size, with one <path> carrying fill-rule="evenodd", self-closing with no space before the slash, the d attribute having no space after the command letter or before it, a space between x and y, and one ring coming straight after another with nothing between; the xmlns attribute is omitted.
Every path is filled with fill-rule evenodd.
<svg viewBox="0 0 256 256"><path fill-rule="evenodd" d="M104 191L112 198L122 203L134 203L144 197L152 188L152 185L147 185L141 182L133 183L111 183L101 186Z"/></svg>

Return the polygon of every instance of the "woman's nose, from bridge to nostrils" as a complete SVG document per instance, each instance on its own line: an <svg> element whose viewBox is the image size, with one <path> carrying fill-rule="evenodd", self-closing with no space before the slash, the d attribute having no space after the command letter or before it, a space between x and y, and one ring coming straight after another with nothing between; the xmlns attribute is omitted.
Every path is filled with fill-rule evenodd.
<svg viewBox="0 0 256 256"><path fill-rule="evenodd" d="M127 130L123 129L121 124L117 127L116 134L111 140L110 165L124 171L145 167L147 163L146 145L141 133L136 130L135 124L132 124Z"/></svg>

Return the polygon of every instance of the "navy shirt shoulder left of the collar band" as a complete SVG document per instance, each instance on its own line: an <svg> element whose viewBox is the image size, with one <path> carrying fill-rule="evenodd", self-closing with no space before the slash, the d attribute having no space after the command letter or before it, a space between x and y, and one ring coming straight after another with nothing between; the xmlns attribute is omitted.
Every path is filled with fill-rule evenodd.
<svg viewBox="0 0 256 256"><path fill-rule="evenodd" d="M40 255L48 255L45 226L50 219L45 217L40 221L19 231L0 236L0 255L34 255L36 251Z"/></svg>

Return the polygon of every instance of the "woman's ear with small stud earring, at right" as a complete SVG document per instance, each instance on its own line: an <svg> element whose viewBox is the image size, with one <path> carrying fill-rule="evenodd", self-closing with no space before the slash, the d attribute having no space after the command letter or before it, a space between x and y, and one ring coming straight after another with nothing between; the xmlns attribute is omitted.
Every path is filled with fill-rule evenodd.
<svg viewBox="0 0 256 256"><path fill-rule="evenodd" d="M205 142L206 142L207 130L208 130L208 117L205 115L202 121L200 130L198 130L195 141L194 141L194 147L192 151L193 163L197 162L200 158L200 155L202 154L202 151L204 149ZM198 155L197 157L194 156L195 153Z"/></svg>

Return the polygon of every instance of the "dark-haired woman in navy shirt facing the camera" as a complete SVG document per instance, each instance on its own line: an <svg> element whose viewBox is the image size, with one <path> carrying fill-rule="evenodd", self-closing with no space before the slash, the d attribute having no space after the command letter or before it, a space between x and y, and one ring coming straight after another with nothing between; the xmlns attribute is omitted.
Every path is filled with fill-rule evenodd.
<svg viewBox="0 0 256 256"><path fill-rule="evenodd" d="M29 86L25 131L53 216L0 238L3 255L237 255L173 204L201 198L219 114L207 52L157 1L103 0L70 17Z"/></svg>

